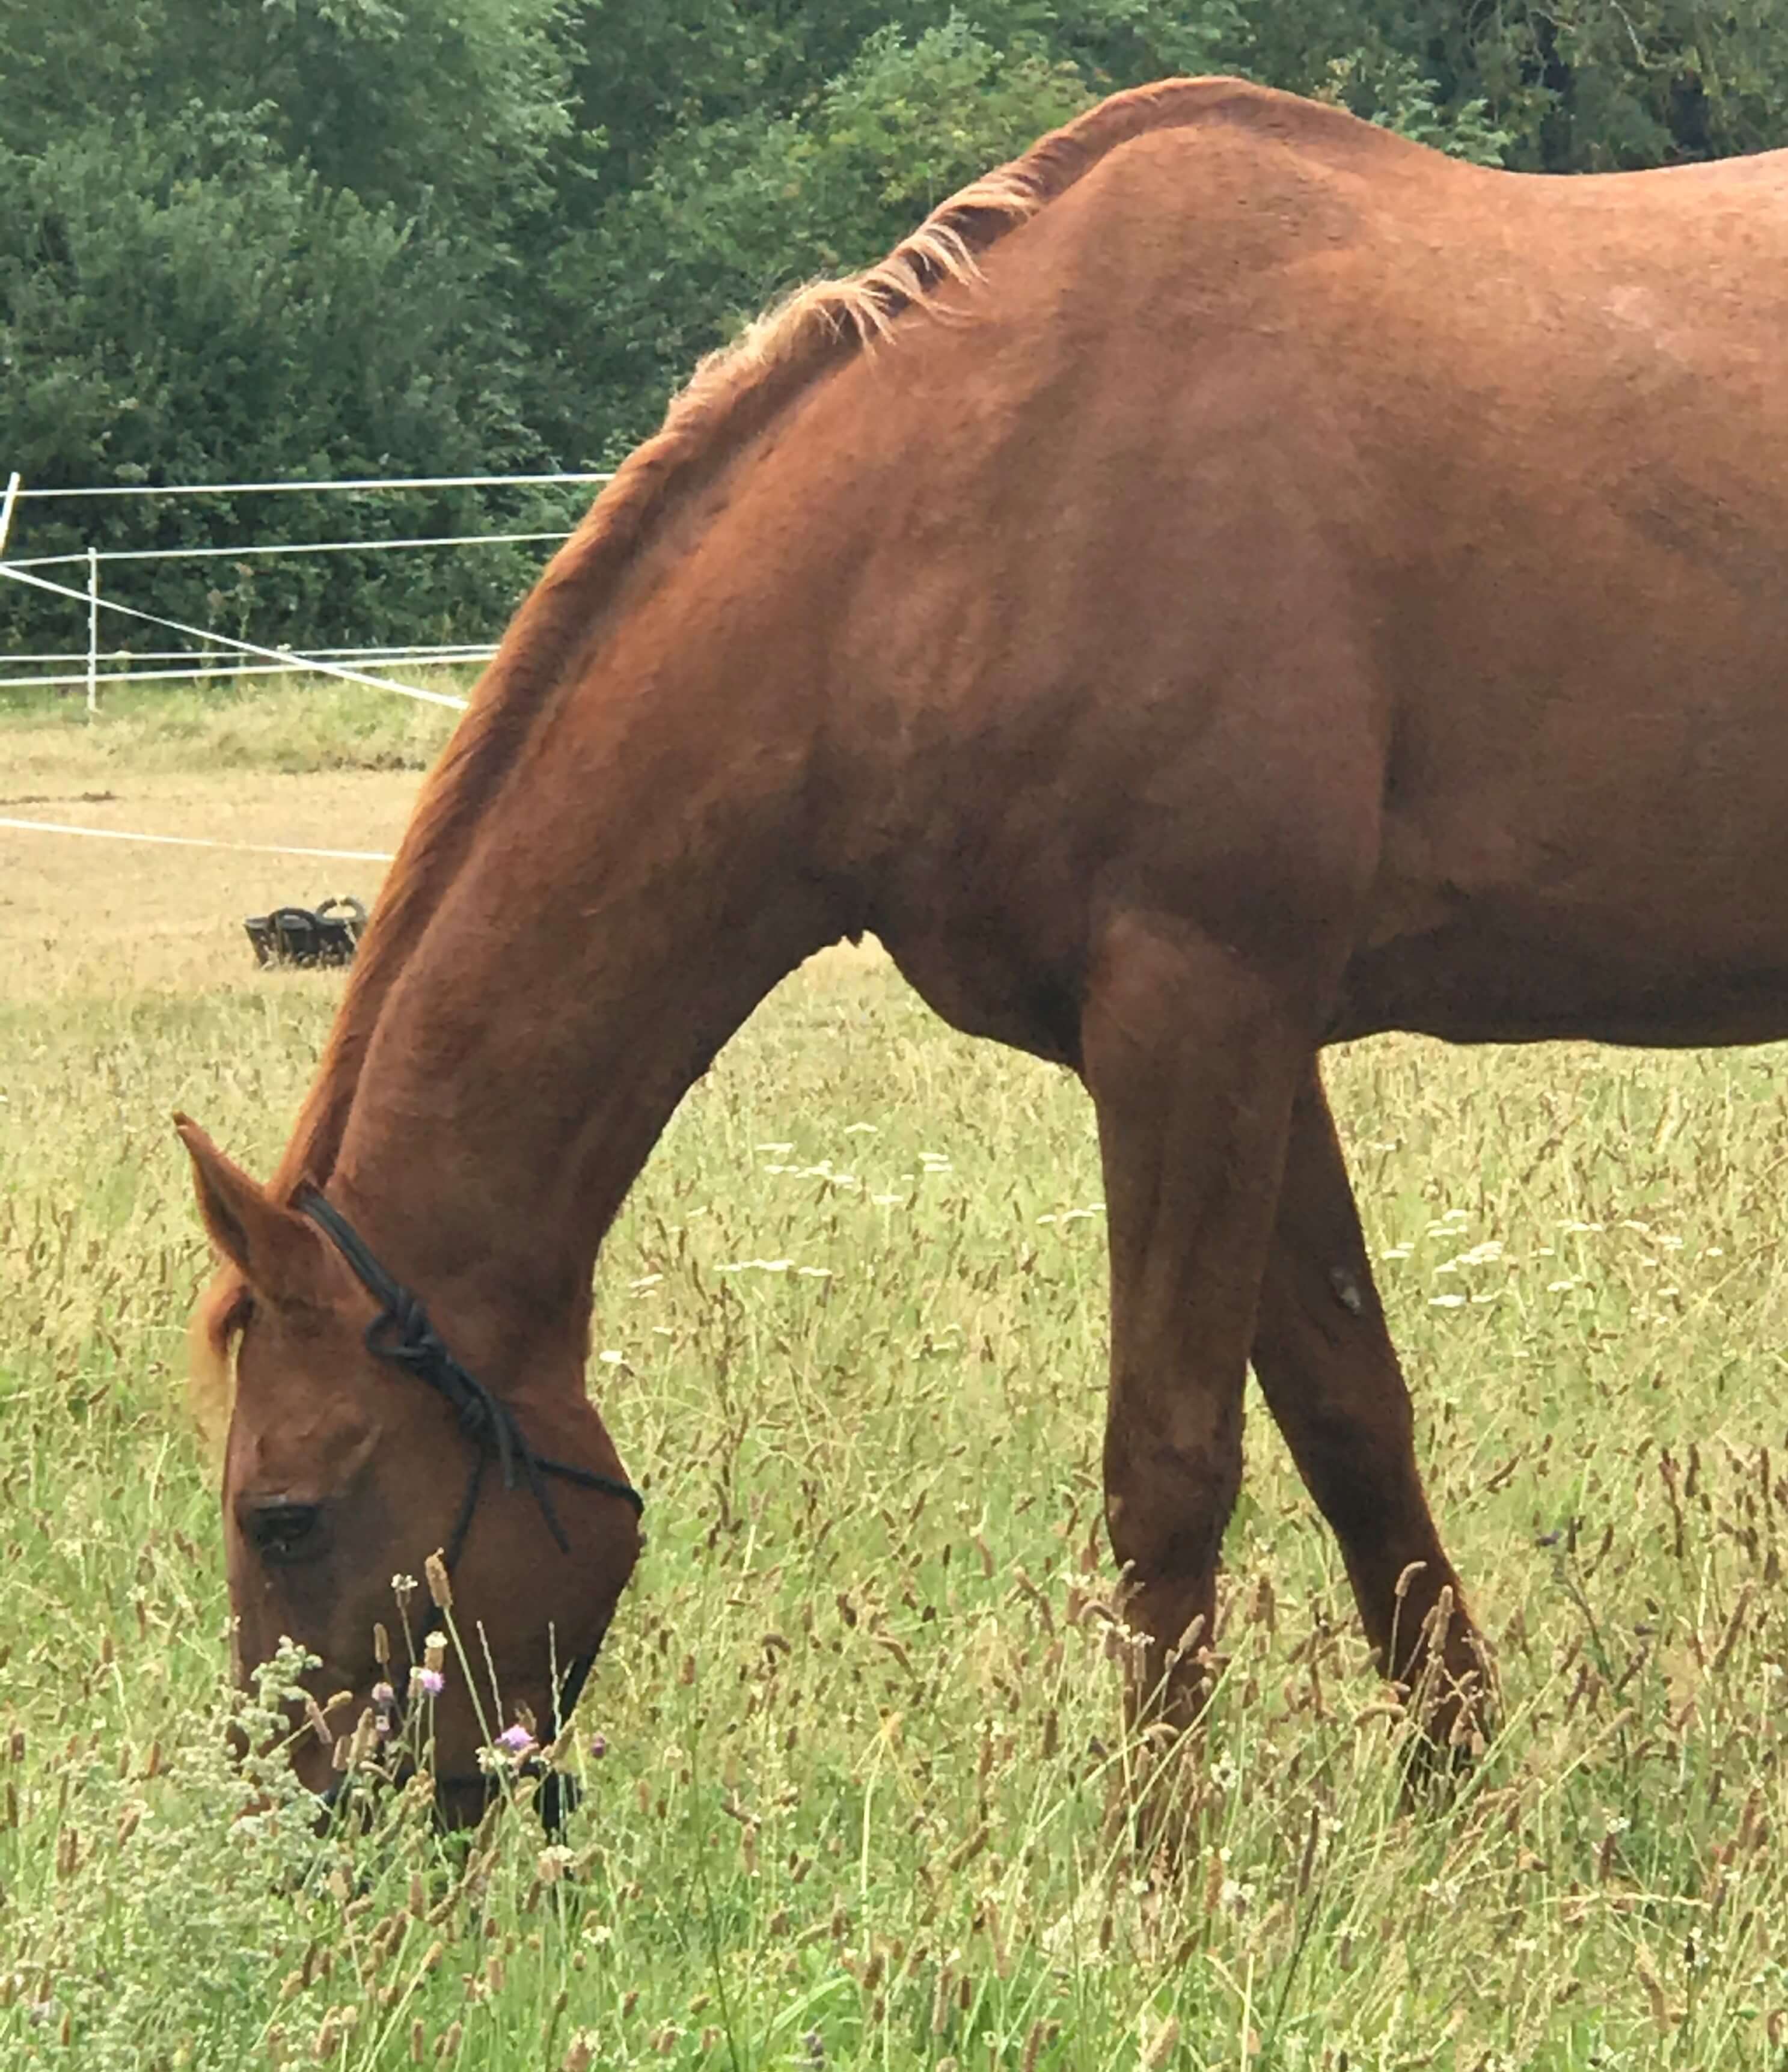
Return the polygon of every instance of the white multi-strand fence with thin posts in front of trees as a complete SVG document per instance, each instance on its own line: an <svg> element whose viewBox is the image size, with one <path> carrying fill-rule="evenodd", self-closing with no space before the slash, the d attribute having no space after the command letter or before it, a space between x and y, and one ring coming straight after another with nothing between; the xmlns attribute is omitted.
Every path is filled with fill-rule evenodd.
<svg viewBox="0 0 1788 2072"><path fill-rule="evenodd" d="M551 472L551 474L410 474L410 477L354 477L348 481L286 481L286 483L99 483L79 489L31 489L15 472L0 503L0 553L4 553L6 528L15 506L31 501L58 501L66 497L213 497L213 495L284 495L305 493L369 493L369 491L419 491L419 489L528 489L543 485L586 485L601 487L611 481L609 472ZM425 698L437 704L462 704L441 692L421 690L414 684L371 678L354 669L327 667L329 659L352 659L385 667L435 669L452 663L483 663L495 653L495 642L412 642L392 646L361 649L315 649L311 655L296 655L292 649L267 649L207 628L184 626L149 611L116 605L102 595L102 570L112 564L155 564L155 562L247 562L257 557L323 555L323 553L416 553L425 549L466 551L474 547L528 545L545 547L570 539L570 533L445 533L433 537L404 539L313 539L313 541L244 541L232 547L85 547L77 553L10 555L0 562L0 576L15 582L29 582L37 591L68 597L87 605L87 646L85 651L33 651L0 653L0 690L73 690L85 686L87 709L99 709L99 692L118 684L174 684L197 678L240 678L240 675L300 675L323 673L348 678L381 688L398 690L406 696ZM33 570L83 568L85 588L73 591L33 576ZM99 613L120 611L126 617L166 626L199 640L197 649L168 649L133 653L126 669L106 673L108 661L122 661L122 655L108 657L99 649ZM215 649L234 655L259 657L265 667L242 663L222 665ZM313 659L315 657L315 659ZM172 663L174 667L139 667L143 661ZM73 673L79 669L79 675ZM60 671L60 673L58 673Z"/></svg>

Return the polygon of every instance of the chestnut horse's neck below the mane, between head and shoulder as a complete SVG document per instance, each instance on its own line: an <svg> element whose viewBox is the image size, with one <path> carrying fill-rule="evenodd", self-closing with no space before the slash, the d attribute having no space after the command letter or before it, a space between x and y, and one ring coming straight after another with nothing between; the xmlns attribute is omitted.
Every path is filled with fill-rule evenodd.
<svg viewBox="0 0 1788 2072"><path fill-rule="evenodd" d="M806 856L812 686L738 632L686 597L603 642L379 1009L334 1183L425 1297L582 1320L684 1092L849 920Z"/></svg>

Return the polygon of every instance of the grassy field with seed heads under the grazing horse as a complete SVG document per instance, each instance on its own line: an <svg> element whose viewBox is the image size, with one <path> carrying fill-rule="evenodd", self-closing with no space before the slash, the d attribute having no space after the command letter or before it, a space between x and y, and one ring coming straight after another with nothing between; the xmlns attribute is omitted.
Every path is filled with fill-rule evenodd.
<svg viewBox="0 0 1788 2072"><path fill-rule="evenodd" d="M439 731L346 690L19 711L0 812L387 850ZM1446 1803L1403 1807L1256 1405L1200 1838L1135 1854L1090 1115L868 953L765 1005L605 1251L651 1546L564 1846L255 1798L168 1111L271 1164L340 982L255 974L240 916L375 876L0 831L0 2064L1788 2064L1773 1051L1332 1061L1500 1662Z"/></svg>

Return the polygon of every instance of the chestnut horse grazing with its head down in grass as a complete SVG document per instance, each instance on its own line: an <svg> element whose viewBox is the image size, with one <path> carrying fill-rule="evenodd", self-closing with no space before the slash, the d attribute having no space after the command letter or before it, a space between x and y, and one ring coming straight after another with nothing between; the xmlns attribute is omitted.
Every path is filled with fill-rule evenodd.
<svg viewBox="0 0 1788 2072"><path fill-rule="evenodd" d="M1457 1732L1318 1057L1788 1032L1784 338L1788 153L1527 178L1206 79L704 363L433 771L273 1181L182 1121L240 1662L290 1633L367 1703L443 1548L564 1714L638 1546L597 1245L765 992L874 930L1092 1094L1137 1703L1202 1703L1251 1361ZM439 1734L472 1776L454 1693Z"/></svg>

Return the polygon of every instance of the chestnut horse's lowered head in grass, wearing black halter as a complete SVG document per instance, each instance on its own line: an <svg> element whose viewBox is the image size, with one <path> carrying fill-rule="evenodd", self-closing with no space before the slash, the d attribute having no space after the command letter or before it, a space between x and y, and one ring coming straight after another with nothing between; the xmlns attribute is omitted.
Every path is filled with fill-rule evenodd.
<svg viewBox="0 0 1788 2072"><path fill-rule="evenodd" d="M290 1637L321 1656L307 1676L319 1705L348 1693L327 1711L334 1736L365 1714L369 1734L431 1718L443 1807L470 1817L485 1803L481 1749L518 1720L541 1743L561 1724L638 1554L638 1498L584 1397L582 1320L520 1332L431 1289L441 1339L485 1361L474 1380L414 1305L394 1318L369 1291L327 1206L319 1222L315 1206L273 1200L201 1129L178 1127L228 1262L201 1320L209 1355L234 1343L236 1357L224 1548L238 1676ZM429 1645L443 1569L458 1643ZM305 1732L294 1763L323 1792L336 1747Z"/></svg>

